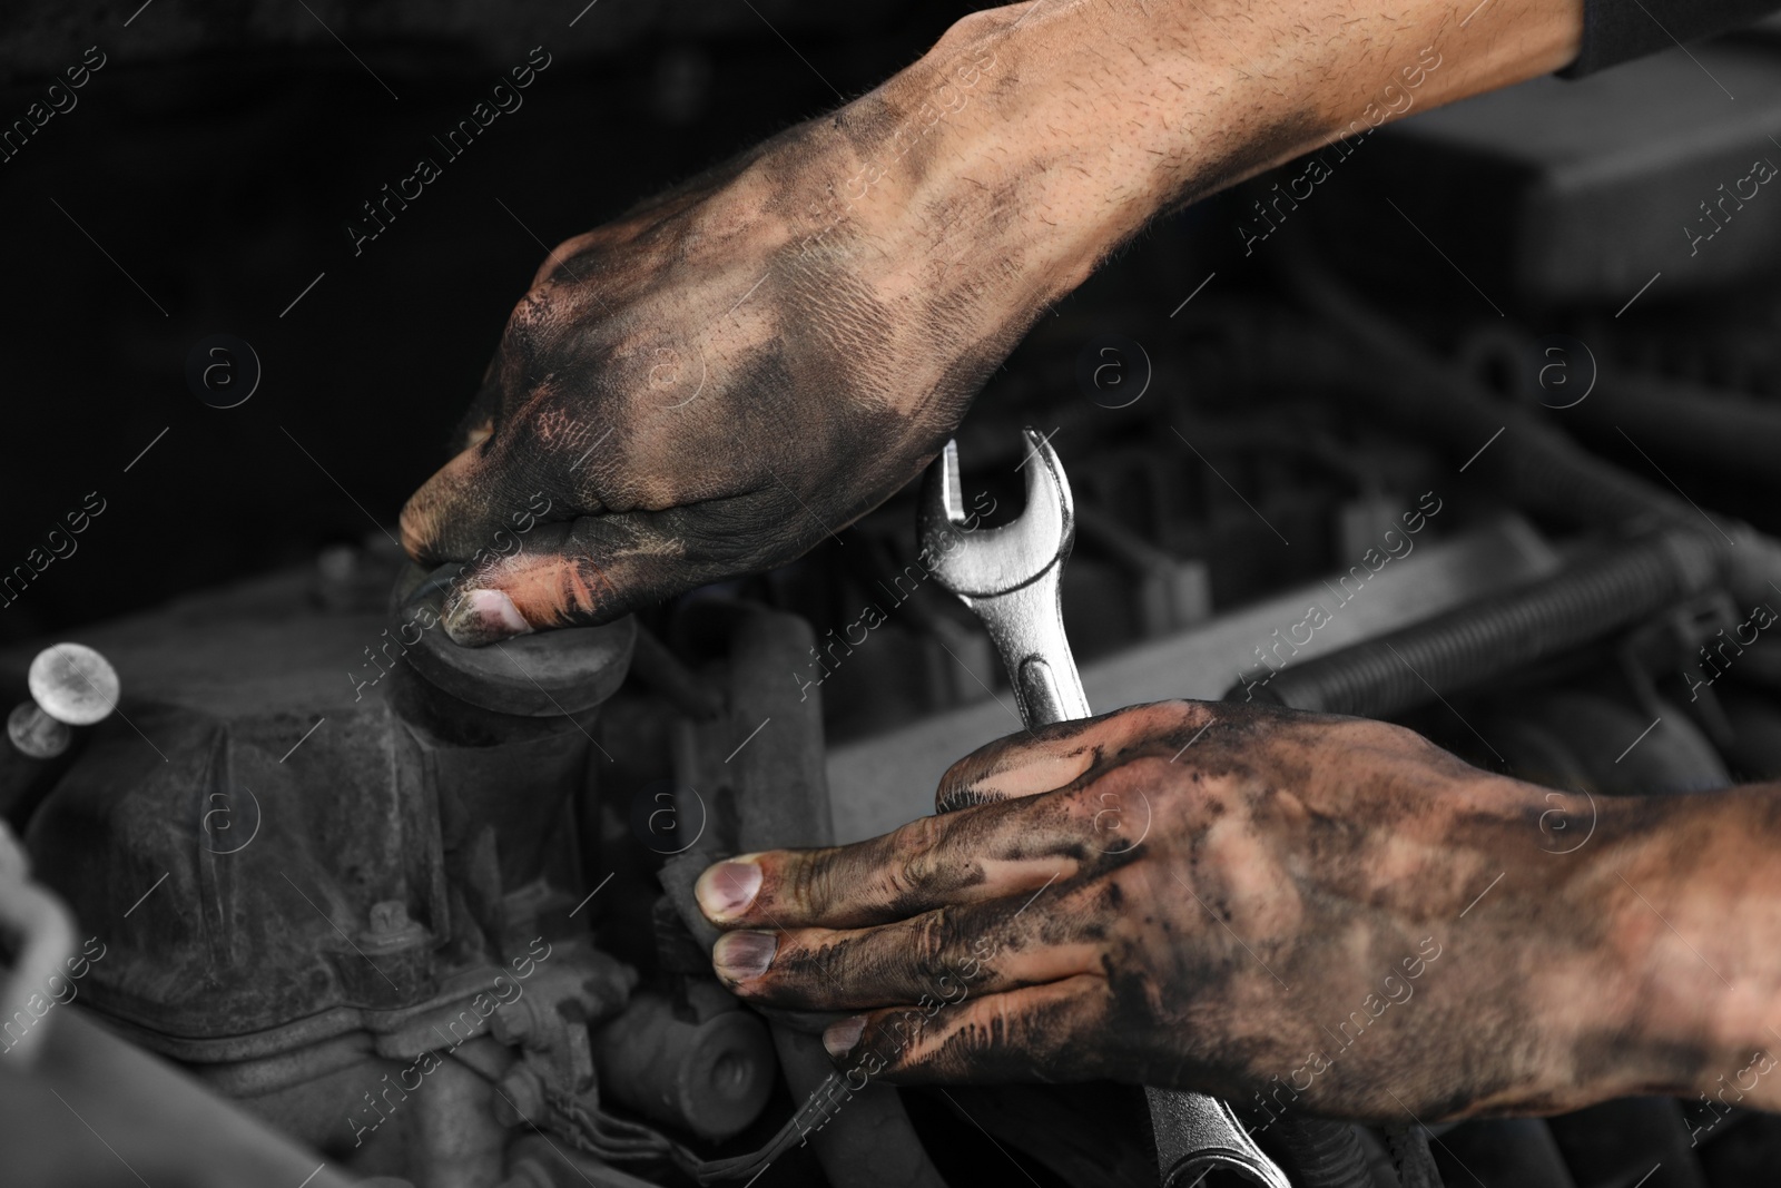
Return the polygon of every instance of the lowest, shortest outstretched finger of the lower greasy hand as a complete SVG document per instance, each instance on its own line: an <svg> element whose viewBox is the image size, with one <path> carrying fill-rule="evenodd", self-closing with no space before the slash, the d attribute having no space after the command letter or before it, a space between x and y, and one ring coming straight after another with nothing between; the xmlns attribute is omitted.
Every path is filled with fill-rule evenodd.
<svg viewBox="0 0 1781 1188"><path fill-rule="evenodd" d="M921 1083L1085 1081L1106 1076L1111 996L1104 978L890 1006L832 1024L841 1069Z"/></svg>

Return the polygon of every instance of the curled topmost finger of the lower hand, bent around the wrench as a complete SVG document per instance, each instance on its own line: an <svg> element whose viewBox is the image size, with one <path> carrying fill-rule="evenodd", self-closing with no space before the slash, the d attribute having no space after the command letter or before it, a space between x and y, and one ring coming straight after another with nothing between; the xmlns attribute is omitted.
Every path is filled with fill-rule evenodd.
<svg viewBox="0 0 1781 1188"><path fill-rule="evenodd" d="M933 794L935 812L1051 793L1104 768L1158 723L1191 736L1209 721L1211 711L1199 702L1158 702L1010 734L946 769Z"/></svg>

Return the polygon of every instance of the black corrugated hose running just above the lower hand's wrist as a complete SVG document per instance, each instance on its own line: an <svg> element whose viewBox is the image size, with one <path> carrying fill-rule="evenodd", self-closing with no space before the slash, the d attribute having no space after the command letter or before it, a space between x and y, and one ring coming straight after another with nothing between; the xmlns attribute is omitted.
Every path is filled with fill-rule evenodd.
<svg viewBox="0 0 1781 1188"><path fill-rule="evenodd" d="M1630 627L1720 577L1719 549L1671 529L1610 547L1544 581L1471 602L1386 636L1252 673L1227 702L1391 718Z"/></svg>

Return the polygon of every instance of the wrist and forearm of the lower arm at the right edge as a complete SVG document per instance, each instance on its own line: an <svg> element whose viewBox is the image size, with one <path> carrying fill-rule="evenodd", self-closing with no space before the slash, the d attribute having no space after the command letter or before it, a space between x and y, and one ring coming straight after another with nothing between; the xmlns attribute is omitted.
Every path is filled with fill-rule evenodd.
<svg viewBox="0 0 1781 1188"><path fill-rule="evenodd" d="M1644 1094L1706 1094L1724 1113L1720 1092L1781 1108L1777 791L1585 796L1485 773L1453 789L1455 812L1501 826L1450 850L1471 867L1453 948L1494 951L1476 985L1510 1054L1468 1113Z"/></svg>

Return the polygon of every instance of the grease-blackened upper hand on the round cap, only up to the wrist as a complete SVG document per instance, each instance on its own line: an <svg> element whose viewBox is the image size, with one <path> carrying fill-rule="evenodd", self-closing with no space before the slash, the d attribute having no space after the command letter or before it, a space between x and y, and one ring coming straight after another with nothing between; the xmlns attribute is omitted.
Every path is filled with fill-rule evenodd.
<svg viewBox="0 0 1781 1188"><path fill-rule="evenodd" d="M980 41L550 253L463 452L403 511L417 559L472 561L447 595L456 641L784 563L939 452L1094 256L1033 233L1056 210L1004 176L1022 162L958 176L958 114L997 69Z"/></svg>

